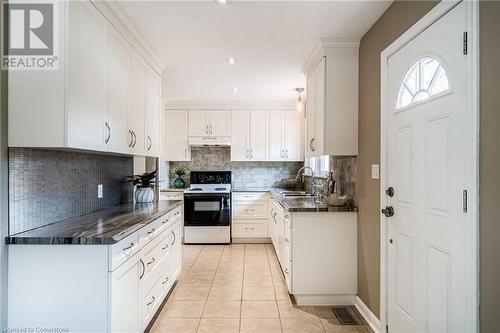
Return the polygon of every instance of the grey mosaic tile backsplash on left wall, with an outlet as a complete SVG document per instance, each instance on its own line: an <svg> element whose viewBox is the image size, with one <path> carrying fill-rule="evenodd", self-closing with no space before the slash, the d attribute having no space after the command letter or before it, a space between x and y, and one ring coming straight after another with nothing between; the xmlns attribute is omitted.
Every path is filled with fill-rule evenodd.
<svg viewBox="0 0 500 333"><path fill-rule="evenodd" d="M9 234L131 201L133 167L132 157L9 148Z"/></svg>

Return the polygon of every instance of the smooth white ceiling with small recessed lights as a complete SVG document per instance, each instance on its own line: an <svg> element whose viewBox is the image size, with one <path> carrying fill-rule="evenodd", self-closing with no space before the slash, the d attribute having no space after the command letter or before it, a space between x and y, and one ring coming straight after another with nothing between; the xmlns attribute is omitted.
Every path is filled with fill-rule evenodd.
<svg viewBox="0 0 500 333"><path fill-rule="evenodd" d="M320 38L361 38L390 1L121 1L171 101L290 102ZM237 59L229 65L229 57ZM233 92L237 87L238 92Z"/></svg>

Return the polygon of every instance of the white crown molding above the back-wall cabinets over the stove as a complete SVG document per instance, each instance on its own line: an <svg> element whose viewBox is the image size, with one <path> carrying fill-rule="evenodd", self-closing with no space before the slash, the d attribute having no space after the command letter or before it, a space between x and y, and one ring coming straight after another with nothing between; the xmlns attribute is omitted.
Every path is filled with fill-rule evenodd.
<svg viewBox="0 0 500 333"><path fill-rule="evenodd" d="M167 101L166 110L294 110L291 102Z"/></svg>

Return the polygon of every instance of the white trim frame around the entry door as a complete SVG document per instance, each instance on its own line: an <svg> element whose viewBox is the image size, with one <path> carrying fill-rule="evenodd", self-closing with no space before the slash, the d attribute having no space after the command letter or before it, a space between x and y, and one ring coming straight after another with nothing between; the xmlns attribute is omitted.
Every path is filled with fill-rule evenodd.
<svg viewBox="0 0 500 333"><path fill-rule="evenodd" d="M387 67L389 57L403 48L429 26L442 18L446 13L455 8L460 0L441 1L431 9L424 17L415 23L410 29L403 33L391 45L381 53L380 70L380 209L386 206L385 189L387 187ZM472 246L472 281L474 282L473 301L470 305L473 313L474 332L479 332L479 1L463 1L467 6L467 77L470 99L467 101L472 111L473 123L471 140L473 140L473 160L470 161L473 179L468 202L470 237ZM386 332L388 324L388 226L387 218L380 214L380 327L379 332ZM390 328L389 328L390 329Z"/></svg>

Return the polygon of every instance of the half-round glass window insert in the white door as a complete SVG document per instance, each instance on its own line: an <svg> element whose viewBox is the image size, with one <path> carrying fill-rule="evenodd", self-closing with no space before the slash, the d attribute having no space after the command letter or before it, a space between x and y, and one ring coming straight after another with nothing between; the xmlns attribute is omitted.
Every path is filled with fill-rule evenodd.
<svg viewBox="0 0 500 333"><path fill-rule="evenodd" d="M443 65L433 57L419 58L410 66L401 82L397 110L421 103L448 90L450 85Z"/></svg>

